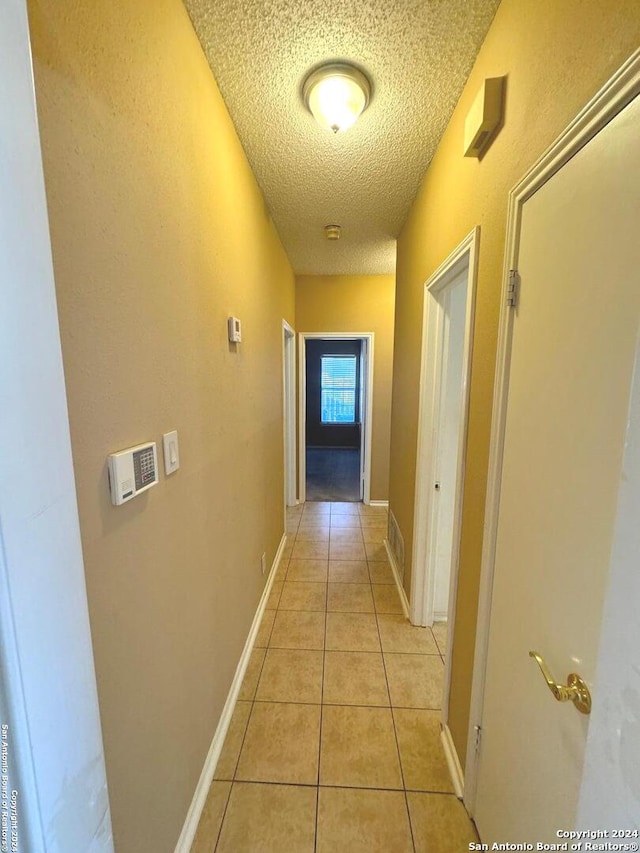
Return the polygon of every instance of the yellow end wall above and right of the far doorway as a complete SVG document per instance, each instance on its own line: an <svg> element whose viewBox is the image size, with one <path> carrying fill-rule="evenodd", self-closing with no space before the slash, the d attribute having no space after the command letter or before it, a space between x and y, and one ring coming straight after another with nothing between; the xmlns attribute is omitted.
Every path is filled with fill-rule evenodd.
<svg viewBox="0 0 640 853"><path fill-rule="evenodd" d="M296 332L373 332L371 500L389 498L395 278L296 276Z"/></svg>

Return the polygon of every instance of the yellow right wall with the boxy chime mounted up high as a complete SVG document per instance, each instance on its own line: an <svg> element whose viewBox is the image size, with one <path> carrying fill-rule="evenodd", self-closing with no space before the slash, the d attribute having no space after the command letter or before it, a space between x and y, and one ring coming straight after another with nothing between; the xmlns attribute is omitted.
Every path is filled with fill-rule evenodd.
<svg viewBox="0 0 640 853"><path fill-rule="evenodd" d="M640 43L637 0L503 0L398 242L390 506L410 591L423 284L479 225L450 727L465 759L489 454L507 194ZM481 161L464 120L486 77L507 76L505 123Z"/></svg>

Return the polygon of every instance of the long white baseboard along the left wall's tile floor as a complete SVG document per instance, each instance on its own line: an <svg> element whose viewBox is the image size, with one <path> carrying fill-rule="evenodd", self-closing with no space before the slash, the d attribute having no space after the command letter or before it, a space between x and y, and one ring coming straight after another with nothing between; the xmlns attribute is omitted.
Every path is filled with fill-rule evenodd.
<svg viewBox="0 0 640 853"><path fill-rule="evenodd" d="M242 654L240 655L238 667L236 669L236 673L233 677L233 681L231 682L231 687L227 695L227 701L224 703L224 708L222 709L222 714L220 715L218 726L216 728L215 734L213 735L213 740L211 741L211 746L209 747L209 752L207 753L207 757L204 762L204 767L202 768L202 773L200 774L200 779L198 780L198 784L196 785L196 791L193 795L193 800L191 801L191 805L189 806L189 811L187 812L187 817L185 819L184 826L182 827L180 838L178 839L178 843L176 844L175 853L189 853L189 851L191 850L193 839L195 838L196 832L198 830L200 815L202 814L202 810L204 808L207 795L209 793L209 788L211 787L211 782L213 781L213 775L216 772L216 765L218 763L218 759L220 758L220 753L222 752L224 739L227 736L227 731L229 730L229 724L231 723L231 717L233 716L233 712L236 707L238 694L240 693L240 687L242 686L242 680L244 679L244 674L249 664L249 658L251 657L251 652L253 651L253 646L258 635L258 630L260 629L260 623L262 622L262 617L264 616L264 611L267 607L267 601L269 599L271 587L273 586L273 579L275 578L278 566L280 565L280 560L282 559L282 554L286 542L287 536L285 533L282 535L282 539L280 540L280 545L278 546L276 556L274 557L267 583L265 584L264 590L262 592L262 597L260 598L260 603L258 604L258 608L256 610L256 615L254 616L253 622L251 624L251 629L249 630L247 642L245 643Z"/></svg>

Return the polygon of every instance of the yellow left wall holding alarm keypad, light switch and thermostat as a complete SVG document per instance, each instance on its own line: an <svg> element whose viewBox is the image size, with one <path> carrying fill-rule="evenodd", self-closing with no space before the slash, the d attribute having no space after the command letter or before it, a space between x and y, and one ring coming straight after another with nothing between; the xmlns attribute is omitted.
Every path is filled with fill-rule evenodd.
<svg viewBox="0 0 640 853"><path fill-rule="evenodd" d="M283 534L294 279L179 0L29 12L115 846L169 853ZM172 429L113 507L107 454Z"/></svg>

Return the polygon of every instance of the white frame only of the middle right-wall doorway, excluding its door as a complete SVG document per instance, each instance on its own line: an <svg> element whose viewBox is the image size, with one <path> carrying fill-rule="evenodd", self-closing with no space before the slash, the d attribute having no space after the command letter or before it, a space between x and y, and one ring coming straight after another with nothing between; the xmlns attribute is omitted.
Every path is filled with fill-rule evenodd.
<svg viewBox="0 0 640 853"><path fill-rule="evenodd" d="M420 402L418 413L418 455L416 465L416 498L414 510L413 567L414 582L411 589L411 622L414 625L432 625L434 617L435 570L433 552L436 545L437 502L434 500L435 459L439 436L440 392L447 369L447 340L445 338L445 311L439 297L466 269L466 303L464 315L464 340L462 377L460 384L460 433L456 454L456 482L453 520L453 548L449 584L448 619L453 627L455 595L457 591L457 566L462 526L462 499L464 490L464 463L469 420L469 385L471 376L471 348L473 344L473 318L478 266L480 228L474 228L438 269L425 282L424 313L422 322L422 361L420 369ZM450 632L451 634L451 632ZM451 645L451 637L448 646ZM445 699L448 704L450 678L447 654L445 672ZM443 707L443 713L445 708Z"/></svg>

